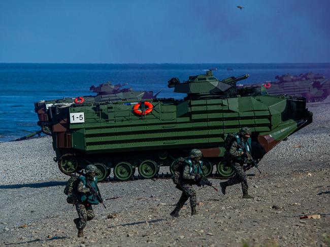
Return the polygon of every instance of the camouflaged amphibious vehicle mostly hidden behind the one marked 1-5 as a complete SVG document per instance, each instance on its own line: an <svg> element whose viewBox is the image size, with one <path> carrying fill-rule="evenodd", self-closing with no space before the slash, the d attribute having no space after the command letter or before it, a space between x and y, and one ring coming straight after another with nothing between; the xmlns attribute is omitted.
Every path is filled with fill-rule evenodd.
<svg viewBox="0 0 330 247"><path fill-rule="evenodd" d="M141 100L153 98L152 91L134 91L132 88L122 88L125 84L112 85L111 82L103 83L95 87L92 85L89 90L96 93L96 95L80 96L76 98L61 98L53 100L40 100L35 102L35 112L38 114L38 125L41 127L43 133L51 135L50 121L47 116L47 110L51 105L71 105L88 102L114 102L117 100Z"/></svg>

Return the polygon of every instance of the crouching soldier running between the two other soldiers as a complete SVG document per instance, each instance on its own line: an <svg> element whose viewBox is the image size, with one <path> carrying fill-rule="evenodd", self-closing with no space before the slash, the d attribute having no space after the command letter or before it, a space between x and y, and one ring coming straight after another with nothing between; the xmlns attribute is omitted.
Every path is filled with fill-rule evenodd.
<svg viewBox="0 0 330 247"><path fill-rule="evenodd" d="M191 215L196 215L196 192L192 188L203 175L203 162L201 161L203 154L199 149L190 151L189 157L184 160L183 171L177 188L182 191L181 197L172 211L171 216L179 217L179 211L184 203L190 198Z"/></svg>

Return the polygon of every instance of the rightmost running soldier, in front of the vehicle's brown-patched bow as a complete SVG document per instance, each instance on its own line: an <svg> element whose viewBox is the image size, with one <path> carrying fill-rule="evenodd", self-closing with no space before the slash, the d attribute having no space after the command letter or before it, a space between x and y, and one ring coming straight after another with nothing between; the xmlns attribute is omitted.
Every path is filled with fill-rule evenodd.
<svg viewBox="0 0 330 247"><path fill-rule="evenodd" d="M235 176L231 179L229 179L226 182L221 182L221 192L222 194L226 193L226 187L230 185L236 185L241 183L242 185L242 191L243 191L243 197L245 199L254 198L253 196L250 196L248 194L248 184L247 184L247 175L243 169L243 165L245 162L245 156L242 147L251 154L251 130L247 127L243 127L240 129L240 132L235 135L236 139L234 140L232 146L229 150L229 160L232 163L232 167L235 170ZM239 145L240 144L240 145Z"/></svg>

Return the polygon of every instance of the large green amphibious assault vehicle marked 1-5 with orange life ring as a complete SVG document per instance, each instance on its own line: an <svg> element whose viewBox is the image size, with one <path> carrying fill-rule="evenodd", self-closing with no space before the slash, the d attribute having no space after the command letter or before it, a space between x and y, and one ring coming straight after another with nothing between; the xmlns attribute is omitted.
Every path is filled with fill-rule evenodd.
<svg viewBox="0 0 330 247"><path fill-rule="evenodd" d="M312 122L303 97L238 91L236 82L247 77L219 81L208 71L182 83L171 79L168 86L186 93L184 99L53 105L48 116L54 160L68 175L94 164L101 170L100 181L111 169L117 180L128 180L135 168L142 178L150 179L160 166L171 166L176 158L198 148L204 155L204 173L227 179L234 173L223 161L228 133L249 127L253 156L259 159Z"/></svg>

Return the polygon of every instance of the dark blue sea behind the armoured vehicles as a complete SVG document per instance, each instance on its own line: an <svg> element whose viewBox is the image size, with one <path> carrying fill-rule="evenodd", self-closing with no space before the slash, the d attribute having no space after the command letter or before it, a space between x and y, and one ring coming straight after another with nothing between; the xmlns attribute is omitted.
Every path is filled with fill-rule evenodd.
<svg viewBox="0 0 330 247"><path fill-rule="evenodd" d="M0 142L38 131L34 102L93 94L91 85L111 81L128 83L136 90L163 89L161 98L182 98L167 87L172 77L188 76L217 68L218 79L250 74L243 84L275 80L275 76L313 72L330 78L330 63L312 64L9 64L0 63ZM232 70L228 70L228 68Z"/></svg>

